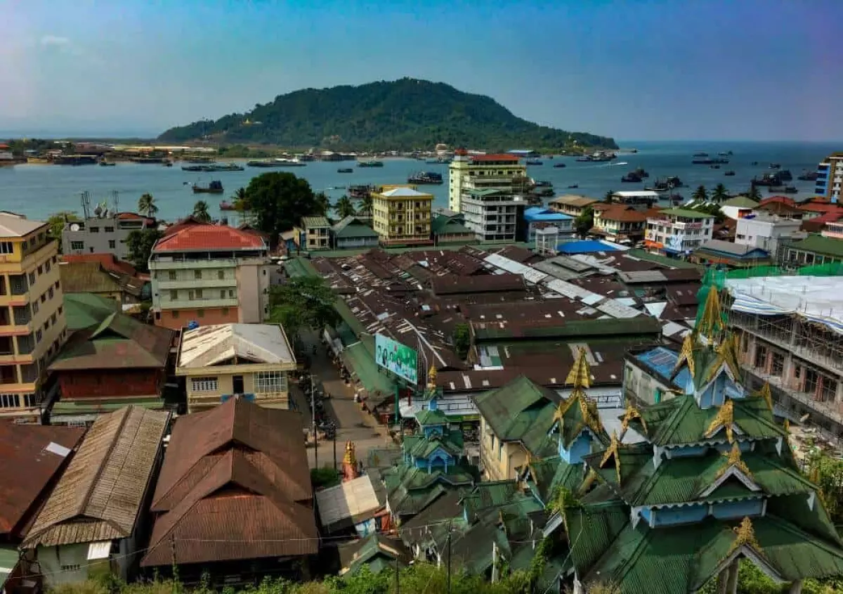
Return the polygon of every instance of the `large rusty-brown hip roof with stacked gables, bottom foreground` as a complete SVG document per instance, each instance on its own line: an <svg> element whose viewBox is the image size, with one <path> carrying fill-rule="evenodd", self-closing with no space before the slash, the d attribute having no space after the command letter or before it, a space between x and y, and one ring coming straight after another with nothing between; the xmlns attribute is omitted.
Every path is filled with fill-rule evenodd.
<svg viewBox="0 0 843 594"><path fill-rule="evenodd" d="M231 399L175 424L144 566L318 550L299 413Z"/></svg>

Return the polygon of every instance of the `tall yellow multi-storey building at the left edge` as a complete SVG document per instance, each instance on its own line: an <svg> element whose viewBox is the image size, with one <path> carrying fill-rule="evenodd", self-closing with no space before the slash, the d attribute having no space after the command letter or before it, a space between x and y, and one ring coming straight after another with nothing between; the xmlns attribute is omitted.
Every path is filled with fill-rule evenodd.
<svg viewBox="0 0 843 594"><path fill-rule="evenodd" d="M0 212L0 419L37 423L46 369L67 338L49 226Z"/></svg>

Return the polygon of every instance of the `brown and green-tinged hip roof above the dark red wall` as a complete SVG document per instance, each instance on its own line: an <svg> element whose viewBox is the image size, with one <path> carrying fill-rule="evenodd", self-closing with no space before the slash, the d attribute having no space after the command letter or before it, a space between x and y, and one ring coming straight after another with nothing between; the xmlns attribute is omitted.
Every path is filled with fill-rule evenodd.
<svg viewBox="0 0 843 594"><path fill-rule="evenodd" d="M167 366L175 332L112 312L97 327L74 332L51 371L160 369Z"/></svg>

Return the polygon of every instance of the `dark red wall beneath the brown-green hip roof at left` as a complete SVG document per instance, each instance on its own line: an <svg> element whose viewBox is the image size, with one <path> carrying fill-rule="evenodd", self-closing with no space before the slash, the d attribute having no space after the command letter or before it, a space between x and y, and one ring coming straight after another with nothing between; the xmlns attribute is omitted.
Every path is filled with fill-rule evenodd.
<svg viewBox="0 0 843 594"><path fill-rule="evenodd" d="M62 398L138 397L161 394L164 370L59 371Z"/></svg>

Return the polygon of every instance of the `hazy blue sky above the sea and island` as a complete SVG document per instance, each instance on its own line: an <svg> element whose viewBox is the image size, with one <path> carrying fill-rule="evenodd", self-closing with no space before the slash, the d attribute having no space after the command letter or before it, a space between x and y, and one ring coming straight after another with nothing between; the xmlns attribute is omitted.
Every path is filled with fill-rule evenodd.
<svg viewBox="0 0 843 594"><path fill-rule="evenodd" d="M0 0L0 131L154 136L412 77L638 140L843 140L843 0Z"/></svg>

